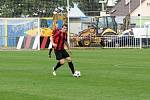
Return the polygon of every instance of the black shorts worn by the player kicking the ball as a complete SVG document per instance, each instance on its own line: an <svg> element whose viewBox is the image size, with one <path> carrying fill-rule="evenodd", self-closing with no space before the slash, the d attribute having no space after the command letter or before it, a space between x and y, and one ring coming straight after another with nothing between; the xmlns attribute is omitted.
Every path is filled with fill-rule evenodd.
<svg viewBox="0 0 150 100"><path fill-rule="evenodd" d="M66 50L61 50L61 51L55 50L55 55L56 55L57 60L61 60L61 59L65 59L67 57L70 57Z"/></svg>

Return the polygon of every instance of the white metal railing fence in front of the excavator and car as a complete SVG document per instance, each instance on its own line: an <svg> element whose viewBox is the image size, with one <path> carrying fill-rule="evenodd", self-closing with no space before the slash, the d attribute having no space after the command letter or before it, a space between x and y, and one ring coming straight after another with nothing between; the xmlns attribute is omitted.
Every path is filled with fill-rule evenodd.
<svg viewBox="0 0 150 100"><path fill-rule="evenodd" d="M70 37L71 47L100 48L145 48L150 47L150 38L135 38L133 35L106 35L101 37Z"/></svg>

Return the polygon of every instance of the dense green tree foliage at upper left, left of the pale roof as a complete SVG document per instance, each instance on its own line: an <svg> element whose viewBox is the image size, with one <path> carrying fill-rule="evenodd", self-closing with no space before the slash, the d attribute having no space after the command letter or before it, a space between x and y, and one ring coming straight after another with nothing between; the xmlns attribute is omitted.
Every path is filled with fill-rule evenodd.
<svg viewBox="0 0 150 100"><path fill-rule="evenodd" d="M64 0L1 0L0 17L49 17L56 7L66 7Z"/></svg>

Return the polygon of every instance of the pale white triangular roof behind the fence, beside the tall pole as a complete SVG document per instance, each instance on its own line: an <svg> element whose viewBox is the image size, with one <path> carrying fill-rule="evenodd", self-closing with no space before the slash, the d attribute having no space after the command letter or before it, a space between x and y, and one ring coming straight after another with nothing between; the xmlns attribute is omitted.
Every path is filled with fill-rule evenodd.
<svg viewBox="0 0 150 100"><path fill-rule="evenodd" d="M74 3L74 7L70 8L69 11L69 17L70 18L80 18L80 17L86 17L85 14L78 8L78 4Z"/></svg>

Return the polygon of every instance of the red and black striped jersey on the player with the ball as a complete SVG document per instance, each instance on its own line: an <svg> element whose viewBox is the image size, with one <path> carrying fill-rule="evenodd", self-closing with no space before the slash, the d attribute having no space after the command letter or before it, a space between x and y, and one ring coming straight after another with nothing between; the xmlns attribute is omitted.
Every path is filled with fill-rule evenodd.
<svg viewBox="0 0 150 100"><path fill-rule="evenodd" d="M67 42L67 33L56 30L55 34L53 34L53 41L57 44L54 48L55 50L64 50L64 43Z"/></svg>

